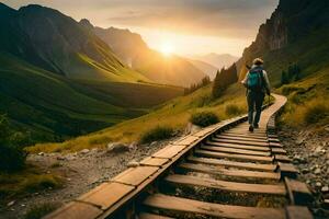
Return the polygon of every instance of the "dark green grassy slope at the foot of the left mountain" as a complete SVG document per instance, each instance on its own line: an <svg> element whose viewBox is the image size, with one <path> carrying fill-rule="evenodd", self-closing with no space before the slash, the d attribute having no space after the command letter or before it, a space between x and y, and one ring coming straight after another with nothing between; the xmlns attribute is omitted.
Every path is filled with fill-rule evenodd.
<svg viewBox="0 0 329 219"><path fill-rule="evenodd" d="M112 90L98 91L97 82L91 87L70 81L8 54L0 54L0 112L7 113L15 127L31 130L42 141L109 127L145 114L136 107L148 107L144 104L147 99L158 96L158 101L163 102L182 92L178 88L136 83L135 93L144 93L145 101L133 102L133 99L122 100L116 93L112 94ZM117 93L129 89L128 83L114 87ZM147 91L151 91L152 96L147 95ZM166 95L167 92L170 95ZM127 101L125 107L116 106L124 101Z"/></svg>

